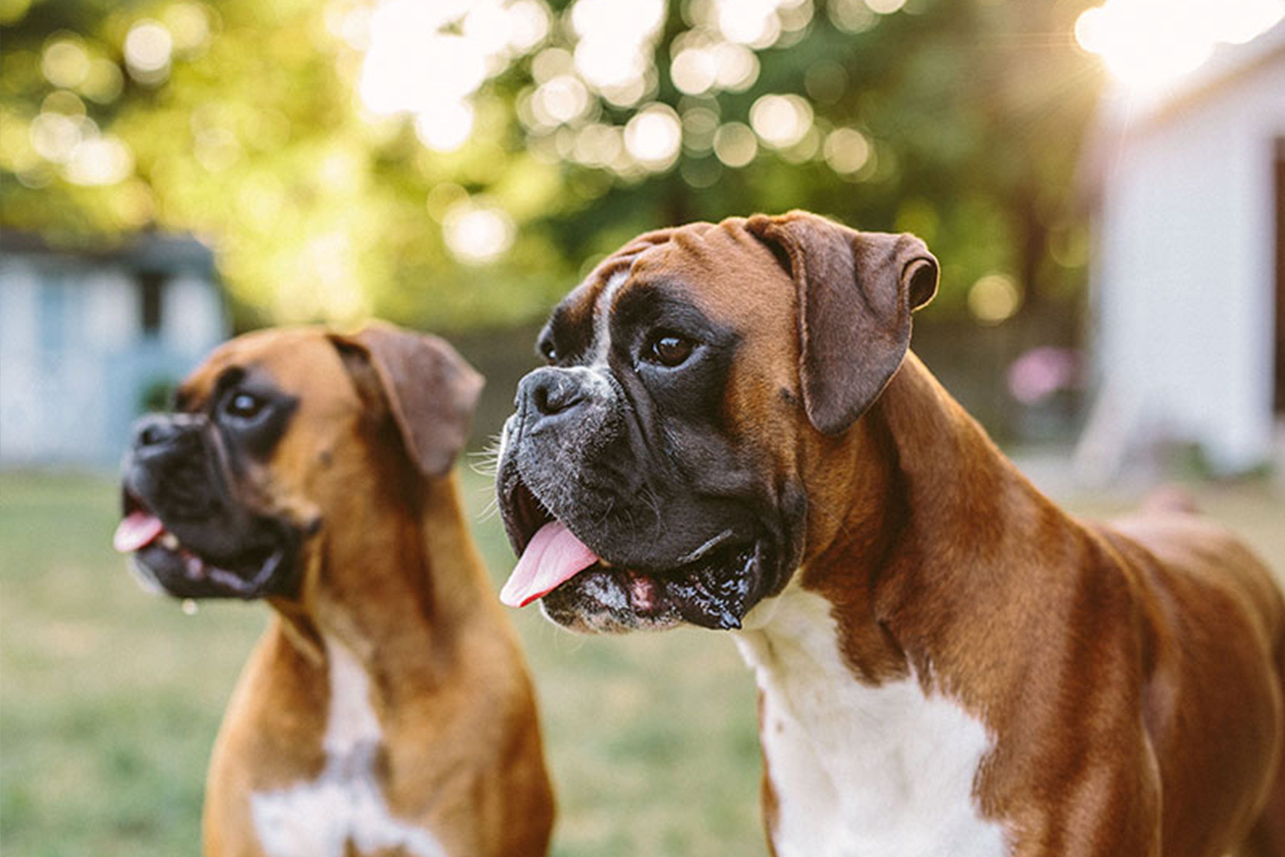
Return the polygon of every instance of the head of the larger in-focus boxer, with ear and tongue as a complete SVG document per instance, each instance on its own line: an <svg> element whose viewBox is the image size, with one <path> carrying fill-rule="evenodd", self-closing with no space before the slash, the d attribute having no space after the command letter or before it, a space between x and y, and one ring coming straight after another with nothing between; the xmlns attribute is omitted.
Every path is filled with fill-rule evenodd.
<svg viewBox="0 0 1285 857"><path fill-rule="evenodd" d="M585 631L739 627L803 559L808 451L842 443L935 289L919 239L803 212L605 260L554 310L505 424L505 603Z"/></svg>

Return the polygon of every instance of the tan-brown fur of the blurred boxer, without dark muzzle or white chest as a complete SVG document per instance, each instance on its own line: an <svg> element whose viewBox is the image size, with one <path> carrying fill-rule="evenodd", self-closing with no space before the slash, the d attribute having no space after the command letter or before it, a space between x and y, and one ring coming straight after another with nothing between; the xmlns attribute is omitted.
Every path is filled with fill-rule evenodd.
<svg viewBox="0 0 1285 857"><path fill-rule="evenodd" d="M206 853L261 854L251 794L321 772L323 635L353 651L370 678L382 734L377 779L394 817L428 830L450 854L545 853L553 798L535 700L456 478L425 477L407 461L397 423L364 401L370 391L324 330L236 339L184 384L182 401L199 407L230 365L257 366L299 398L253 479L267 504L323 526L305 555L301 596L274 599L276 615L224 718Z"/></svg>

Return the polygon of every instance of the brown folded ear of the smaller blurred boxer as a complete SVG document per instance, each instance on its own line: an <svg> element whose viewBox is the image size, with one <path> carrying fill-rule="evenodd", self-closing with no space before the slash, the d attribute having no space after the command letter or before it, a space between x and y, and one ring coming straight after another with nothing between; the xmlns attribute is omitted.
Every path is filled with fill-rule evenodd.
<svg viewBox="0 0 1285 857"><path fill-rule="evenodd" d="M411 461L424 475L446 474L468 439L482 375L445 339L386 322L330 340L359 391L378 387Z"/></svg>

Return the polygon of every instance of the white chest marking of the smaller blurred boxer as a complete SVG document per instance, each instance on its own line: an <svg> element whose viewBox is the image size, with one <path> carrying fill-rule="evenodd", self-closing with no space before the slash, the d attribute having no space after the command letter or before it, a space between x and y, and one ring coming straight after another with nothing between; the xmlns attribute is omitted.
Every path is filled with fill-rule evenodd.
<svg viewBox="0 0 1285 857"><path fill-rule="evenodd" d="M379 721L370 680L348 649L326 640L330 708L321 745L326 763L310 782L251 795L254 830L269 857L344 857L401 848L412 857L445 857L427 830L398 821L374 777Z"/></svg>

